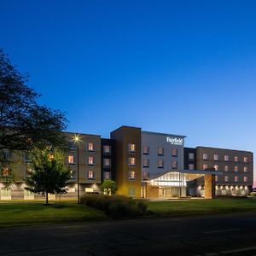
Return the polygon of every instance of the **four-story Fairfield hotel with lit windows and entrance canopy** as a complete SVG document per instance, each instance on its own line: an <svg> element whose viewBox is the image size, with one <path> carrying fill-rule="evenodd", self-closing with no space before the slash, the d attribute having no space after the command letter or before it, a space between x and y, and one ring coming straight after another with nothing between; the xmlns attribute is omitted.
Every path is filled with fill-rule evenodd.
<svg viewBox="0 0 256 256"><path fill-rule="evenodd" d="M247 195L253 187L253 153L221 148L184 148L184 136L121 126L110 139L66 132L73 184L65 197L100 191L104 179L117 183L119 195L156 198L177 196ZM74 138L77 140L74 140ZM0 183L1 199L34 199L24 189L32 173L26 154L15 152L2 177L15 173L7 189Z"/></svg>

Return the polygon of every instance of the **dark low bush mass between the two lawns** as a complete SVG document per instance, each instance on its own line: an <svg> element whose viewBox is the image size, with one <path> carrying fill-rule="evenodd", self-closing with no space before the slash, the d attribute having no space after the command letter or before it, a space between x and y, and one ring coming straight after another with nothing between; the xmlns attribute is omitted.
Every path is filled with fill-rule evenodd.
<svg viewBox="0 0 256 256"><path fill-rule="evenodd" d="M145 201L123 195L84 195L81 203L106 212L111 218L137 217L147 213Z"/></svg>

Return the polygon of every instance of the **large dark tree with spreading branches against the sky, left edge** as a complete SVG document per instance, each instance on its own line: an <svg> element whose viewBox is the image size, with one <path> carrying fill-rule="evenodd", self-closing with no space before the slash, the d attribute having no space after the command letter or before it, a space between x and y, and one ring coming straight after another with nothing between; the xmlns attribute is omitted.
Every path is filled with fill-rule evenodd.
<svg viewBox="0 0 256 256"><path fill-rule="evenodd" d="M27 81L0 49L0 150L64 147L64 113L39 105Z"/></svg>

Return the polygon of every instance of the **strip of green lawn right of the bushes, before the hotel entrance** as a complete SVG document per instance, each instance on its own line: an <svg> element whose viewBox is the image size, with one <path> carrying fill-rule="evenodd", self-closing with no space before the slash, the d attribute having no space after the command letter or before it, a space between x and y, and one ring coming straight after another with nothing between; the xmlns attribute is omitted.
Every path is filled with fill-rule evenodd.
<svg viewBox="0 0 256 256"><path fill-rule="evenodd" d="M189 201L150 201L152 217L189 216L231 212L256 212L256 200L251 198L221 198Z"/></svg>

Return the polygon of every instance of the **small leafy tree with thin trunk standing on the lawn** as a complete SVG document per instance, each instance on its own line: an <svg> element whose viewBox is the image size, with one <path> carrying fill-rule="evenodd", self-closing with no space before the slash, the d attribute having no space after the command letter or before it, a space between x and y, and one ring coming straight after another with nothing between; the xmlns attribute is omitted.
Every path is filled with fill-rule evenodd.
<svg viewBox="0 0 256 256"><path fill-rule="evenodd" d="M45 195L46 205L49 194L67 193L71 170L64 166L63 159L63 153L57 148L34 148L30 152L34 170L31 176L25 178L25 189L38 195Z"/></svg>

